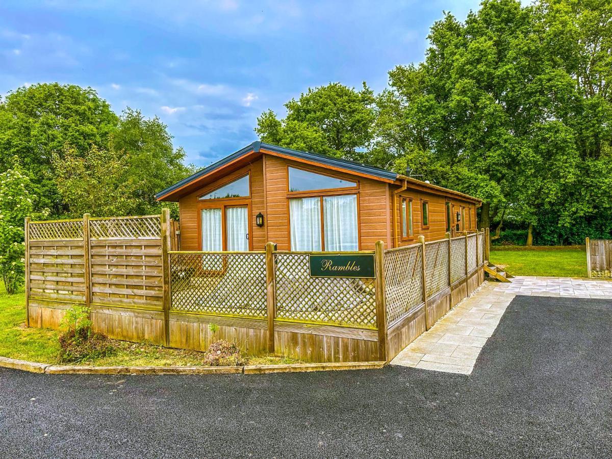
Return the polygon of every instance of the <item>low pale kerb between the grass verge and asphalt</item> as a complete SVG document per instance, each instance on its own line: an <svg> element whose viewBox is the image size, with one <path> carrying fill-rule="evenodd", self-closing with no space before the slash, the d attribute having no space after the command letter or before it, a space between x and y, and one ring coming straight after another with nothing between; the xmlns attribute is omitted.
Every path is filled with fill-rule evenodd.
<svg viewBox="0 0 612 459"><path fill-rule="evenodd" d="M50 375L261 375L296 371L372 370L386 362L330 362L324 364L245 365L244 367L91 367L52 365L0 357L0 367Z"/></svg>

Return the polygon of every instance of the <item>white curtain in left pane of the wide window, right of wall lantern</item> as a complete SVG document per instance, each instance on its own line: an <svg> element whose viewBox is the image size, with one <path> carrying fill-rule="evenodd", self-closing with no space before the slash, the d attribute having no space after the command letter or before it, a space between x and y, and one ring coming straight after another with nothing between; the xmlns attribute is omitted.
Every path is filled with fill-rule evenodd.
<svg viewBox="0 0 612 459"><path fill-rule="evenodd" d="M321 199L289 200L291 250L321 250Z"/></svg>

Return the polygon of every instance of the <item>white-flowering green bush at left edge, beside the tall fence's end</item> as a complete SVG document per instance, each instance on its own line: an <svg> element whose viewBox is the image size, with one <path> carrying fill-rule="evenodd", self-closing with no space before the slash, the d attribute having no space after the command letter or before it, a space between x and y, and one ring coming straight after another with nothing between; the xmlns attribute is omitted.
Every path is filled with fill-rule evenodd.
<svg viewBox="0 0 612 459"><path fill-rule="evenodd" d="M15 293L24 282L24 218L32 214L34 196L18 165L0 174L0 275L6 291Z"/></svg>

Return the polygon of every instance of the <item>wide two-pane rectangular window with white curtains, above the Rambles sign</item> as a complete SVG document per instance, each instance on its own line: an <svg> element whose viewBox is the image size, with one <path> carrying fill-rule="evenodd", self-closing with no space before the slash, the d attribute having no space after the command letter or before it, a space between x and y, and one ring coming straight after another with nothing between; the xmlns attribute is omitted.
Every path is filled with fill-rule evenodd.
<svg viewBox="0 0 612 459"><path fill-rule="evenodd" d="M358 250L357 195L290 199L289 227L291 250Z"/></svg>

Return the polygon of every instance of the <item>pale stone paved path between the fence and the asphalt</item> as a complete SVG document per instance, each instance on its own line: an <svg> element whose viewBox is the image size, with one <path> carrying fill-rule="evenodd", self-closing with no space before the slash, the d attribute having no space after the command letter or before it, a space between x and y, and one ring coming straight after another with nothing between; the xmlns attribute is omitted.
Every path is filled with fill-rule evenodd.
<svg viewBox="0 0 612 459"><path fill-rule="evenodd" d="M517 276L512 283L485 282L476 293L412 341L391 364L469 375L517 294L612 299L612 281Z"/></svg>

